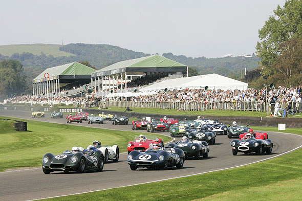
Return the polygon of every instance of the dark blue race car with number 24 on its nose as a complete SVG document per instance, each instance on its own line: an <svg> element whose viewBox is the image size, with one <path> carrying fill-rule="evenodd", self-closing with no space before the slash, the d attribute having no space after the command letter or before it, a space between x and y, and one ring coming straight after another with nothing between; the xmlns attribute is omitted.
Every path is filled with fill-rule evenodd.
<svg viewBox="0 0 302 201"><path fill-rule="evenodd" d="M145 152L132 151L127 157L127 163L131 170L136 170L139 167L166 169L167 167L176 166L182 168L184 162L184 151L175 147L161 147L158 149L150 147Z"/></svg>

